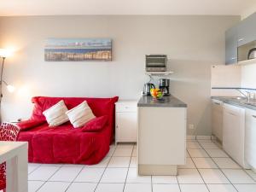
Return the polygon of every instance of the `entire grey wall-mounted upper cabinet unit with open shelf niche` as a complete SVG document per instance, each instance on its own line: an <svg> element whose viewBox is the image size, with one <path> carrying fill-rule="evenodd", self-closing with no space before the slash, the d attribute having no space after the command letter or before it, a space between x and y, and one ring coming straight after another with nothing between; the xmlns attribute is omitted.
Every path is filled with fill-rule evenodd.
<svg viewBox="0 0 256 192"><path fill-rule="evenodd" d="M226 65L247 60L253 41L256 41L256 13L225 32Z"/></svg>

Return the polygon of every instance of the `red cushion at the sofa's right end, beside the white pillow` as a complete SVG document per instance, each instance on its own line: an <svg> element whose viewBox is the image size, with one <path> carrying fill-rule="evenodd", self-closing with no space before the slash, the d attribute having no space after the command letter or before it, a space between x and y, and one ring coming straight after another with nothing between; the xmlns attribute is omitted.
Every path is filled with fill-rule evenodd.
<svg viewBox="0 0 256 192"><path fill-rule="evenodd" d="M91 119L82 127L83 132L101 131L108 123L108 115Z"/></svg>

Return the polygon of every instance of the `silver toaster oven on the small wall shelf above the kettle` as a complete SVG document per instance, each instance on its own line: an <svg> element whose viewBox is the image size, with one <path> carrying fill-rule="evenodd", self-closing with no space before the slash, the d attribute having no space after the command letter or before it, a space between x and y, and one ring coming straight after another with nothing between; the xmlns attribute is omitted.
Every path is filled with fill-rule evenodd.
<svg viewBox="0 0 256 192"><path fill-rule="evenodd" d="M146 55L146 72L166 72L167 55Z"/></svg>

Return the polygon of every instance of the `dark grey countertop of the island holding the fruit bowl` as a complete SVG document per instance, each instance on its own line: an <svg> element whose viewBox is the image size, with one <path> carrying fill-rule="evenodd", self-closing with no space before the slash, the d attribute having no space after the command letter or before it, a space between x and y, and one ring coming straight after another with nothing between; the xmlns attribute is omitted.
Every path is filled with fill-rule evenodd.
<svg viewBox="0 0 256 192"><path fill-rule="evenodd" d="M137 107L187 108L187 104L172 95L163 96L162 101L154 100L152 96L142 96L137 103Z"/></svg>

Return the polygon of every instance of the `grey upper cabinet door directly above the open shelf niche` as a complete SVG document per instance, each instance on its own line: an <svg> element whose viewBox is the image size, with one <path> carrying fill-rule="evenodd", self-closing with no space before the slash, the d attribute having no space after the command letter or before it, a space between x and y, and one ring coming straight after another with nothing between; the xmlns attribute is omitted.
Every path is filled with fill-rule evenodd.
<svg viewBox="0 0 256 192"><path fill-rule="evenodd" d="M237 26L238 47L256 40L256 13L250 15Z"/></svg>

